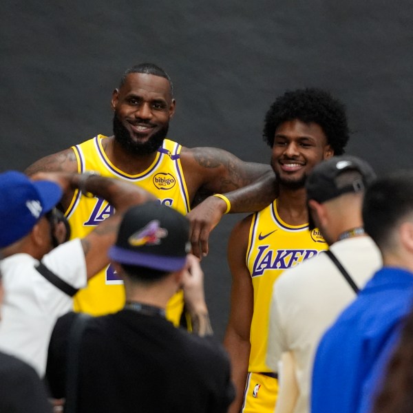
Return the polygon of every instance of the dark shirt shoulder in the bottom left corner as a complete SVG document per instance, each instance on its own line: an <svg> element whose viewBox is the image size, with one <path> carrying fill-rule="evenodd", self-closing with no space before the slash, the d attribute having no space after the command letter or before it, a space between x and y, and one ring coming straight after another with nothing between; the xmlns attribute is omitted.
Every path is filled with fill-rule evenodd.
<svg viewBox="0 0 413 413"><path fill-rule="evenodd" d="M51 413L45 386L34 368L0 352L0 412Z"/></svg>

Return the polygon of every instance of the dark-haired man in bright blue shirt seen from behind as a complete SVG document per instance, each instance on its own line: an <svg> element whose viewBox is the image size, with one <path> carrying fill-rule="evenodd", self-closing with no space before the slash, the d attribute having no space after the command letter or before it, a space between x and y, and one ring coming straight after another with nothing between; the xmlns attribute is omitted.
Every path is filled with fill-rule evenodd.
<svg viewBox="0 0 413 413"><path fill-rule="evenodd" d="M363 221L381 250L383 268L321 339L313 370L313 413L371 410L403 318L412 307L413 171L372 184Z"/></svg>

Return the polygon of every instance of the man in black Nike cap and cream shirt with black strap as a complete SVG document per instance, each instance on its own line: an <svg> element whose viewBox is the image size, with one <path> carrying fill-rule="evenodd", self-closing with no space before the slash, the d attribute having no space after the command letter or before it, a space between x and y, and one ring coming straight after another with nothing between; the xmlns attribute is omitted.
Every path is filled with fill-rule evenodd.
<svg viewBox="0 0 413 413"><path fill-rule="evenodd" d="M306 182L310 217L330 253L285 271L275 282L266 357L277 371L282 354L290 352L298 386L295 413L310 410L311 372L321 335L381 266L379 249L364 233L361 218L364 189L374 178L363 160L335 156L317 165ZM282 389L282 379L280 385ZM280 390L284 392L288 389Z"/></svg>

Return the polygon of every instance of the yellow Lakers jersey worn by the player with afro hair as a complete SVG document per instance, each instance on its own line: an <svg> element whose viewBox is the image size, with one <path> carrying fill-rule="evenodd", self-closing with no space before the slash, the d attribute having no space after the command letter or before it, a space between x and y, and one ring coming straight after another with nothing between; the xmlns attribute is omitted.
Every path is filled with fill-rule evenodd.
<svg viewBox="0 0 413 413"><path fill-rule="evenodd" d="M317 229L310 232L308 224L292 226L283 222L277 213L276 204L277 200L253 215L249 233L246 264L254 289L250 372L271 372L265 359L269 308L275 279L287 268L327 248Z"/></svg>

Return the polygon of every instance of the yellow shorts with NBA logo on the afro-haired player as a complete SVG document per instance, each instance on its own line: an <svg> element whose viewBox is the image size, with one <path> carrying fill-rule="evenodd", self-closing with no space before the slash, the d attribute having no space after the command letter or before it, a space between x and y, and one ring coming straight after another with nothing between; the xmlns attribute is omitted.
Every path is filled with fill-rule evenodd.
<svg viewBox="0 0 413 413"><path fill-rule="evenodd" d="M273 413L278 396L278 380L262 373L248 373L242 413Z"/></svg>

